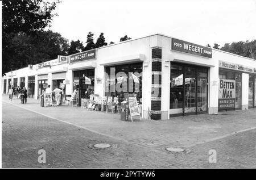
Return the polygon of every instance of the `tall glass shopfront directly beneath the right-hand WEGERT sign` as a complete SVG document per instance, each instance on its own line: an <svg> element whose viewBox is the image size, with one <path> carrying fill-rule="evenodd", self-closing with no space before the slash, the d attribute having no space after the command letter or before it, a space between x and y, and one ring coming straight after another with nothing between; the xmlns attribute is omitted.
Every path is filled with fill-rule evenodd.
<svg viewBox="0 0 256 180"><path fill-rule="evenodd" d="M208 68L171 63L170 114L207 113Z"/></svg>

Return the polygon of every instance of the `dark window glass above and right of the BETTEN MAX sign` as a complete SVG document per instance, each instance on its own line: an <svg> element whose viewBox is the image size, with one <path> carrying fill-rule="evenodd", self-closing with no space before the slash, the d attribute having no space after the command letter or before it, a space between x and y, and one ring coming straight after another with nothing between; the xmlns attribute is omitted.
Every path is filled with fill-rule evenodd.
<svg viewBox="0 0 256 180"><path fill-rule="evenodd" d="M236 101L235 109L239 110L242 107L242 73L232 72L228 70L219 70L218 77L220 79L236 80Z"/></svg>

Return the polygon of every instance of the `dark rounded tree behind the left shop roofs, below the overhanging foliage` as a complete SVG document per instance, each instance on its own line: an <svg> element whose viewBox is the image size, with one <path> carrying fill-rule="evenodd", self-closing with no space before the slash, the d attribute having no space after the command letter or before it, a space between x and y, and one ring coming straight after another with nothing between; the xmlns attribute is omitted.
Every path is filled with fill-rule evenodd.
<svg viewBox="0 0 256 180"><path fill-rule="evenodd" d="M34 36L19 32L10 39L9 44L8 49L15 53L15 58L10 60L17 69L52 60L57 55L67 55L68 51L68 40L52 31L38 31Z"/></svg>

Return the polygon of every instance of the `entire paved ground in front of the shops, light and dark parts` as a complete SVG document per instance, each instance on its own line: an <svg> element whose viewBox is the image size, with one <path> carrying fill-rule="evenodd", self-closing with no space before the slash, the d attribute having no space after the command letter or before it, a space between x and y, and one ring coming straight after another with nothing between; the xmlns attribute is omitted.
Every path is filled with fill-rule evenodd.
<svg viewBox="0 0 256 180"><path fill-rule="evenodd" d="M15 112L15 113L14 113ZM256 110L123 122L80 107L2 96L3 168L256 168ZM109 143L108 149L93 148ZM185 149L167 152L167 146ZM44 164L38 150L46 150ZM209 163L209 150L217 163Z"/></svg>

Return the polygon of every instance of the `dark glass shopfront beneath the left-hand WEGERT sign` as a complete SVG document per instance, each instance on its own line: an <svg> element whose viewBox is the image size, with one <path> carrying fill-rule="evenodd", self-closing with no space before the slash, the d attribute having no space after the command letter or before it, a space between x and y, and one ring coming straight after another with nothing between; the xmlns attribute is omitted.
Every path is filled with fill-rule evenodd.
<svg viewBox="0 0 256 180"><path fill-rule="evenodd" d="M81 99L89 99L94 94L94 69L78 70L73 72L73 91L77 90L77 104L81 106ZM90 84L85 83L85 77L90 79Z"/></svg>

